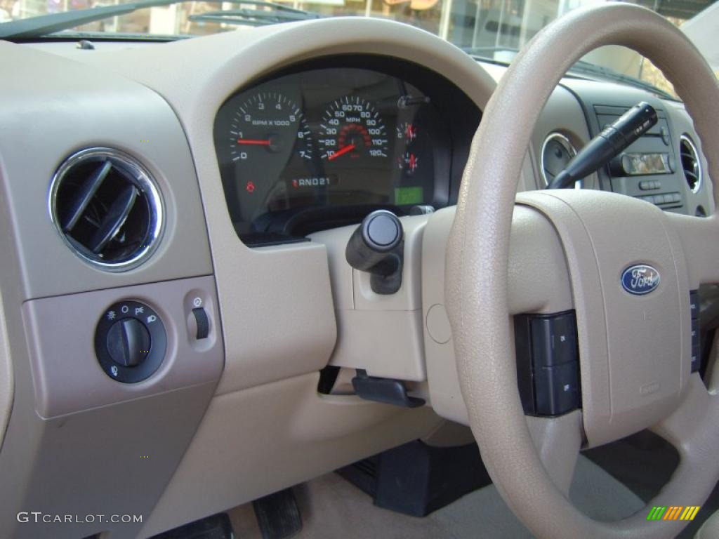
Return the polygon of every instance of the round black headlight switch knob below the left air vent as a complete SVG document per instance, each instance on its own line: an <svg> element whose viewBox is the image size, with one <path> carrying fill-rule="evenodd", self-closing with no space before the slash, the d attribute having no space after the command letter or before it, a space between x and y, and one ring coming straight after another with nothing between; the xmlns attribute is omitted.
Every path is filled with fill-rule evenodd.
<svg viewBox="0 0 719 539"><path fill-rule="evenodd" d="M95 354L102 370L124 383L142 382L165 359L167 334L150 305L127 300L110 305L95 330Z"/></svg>

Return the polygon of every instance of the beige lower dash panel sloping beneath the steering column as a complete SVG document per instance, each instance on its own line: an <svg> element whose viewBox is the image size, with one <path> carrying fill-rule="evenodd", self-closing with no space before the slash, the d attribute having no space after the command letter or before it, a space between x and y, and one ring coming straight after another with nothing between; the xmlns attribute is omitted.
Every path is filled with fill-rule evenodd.
<svg viewBox="0 0 719 539"><path fill-rule="evenodd" d="M307 481L442 423L429 407L317 395L317 382L306 374L215 397L140 537Z"/></svg>

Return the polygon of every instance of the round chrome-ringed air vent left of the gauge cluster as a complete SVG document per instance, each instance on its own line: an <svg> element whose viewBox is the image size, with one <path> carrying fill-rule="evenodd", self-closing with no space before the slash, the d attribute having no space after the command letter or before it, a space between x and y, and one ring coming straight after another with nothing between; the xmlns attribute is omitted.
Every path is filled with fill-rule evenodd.
<svg viewBox="0 0 719 539"><path fill-rule="evenodd" d="M70 249L108 271L126 271L152 254L162 202L145 167L109 148L68 157L52 178L50 215Z"/></svg>

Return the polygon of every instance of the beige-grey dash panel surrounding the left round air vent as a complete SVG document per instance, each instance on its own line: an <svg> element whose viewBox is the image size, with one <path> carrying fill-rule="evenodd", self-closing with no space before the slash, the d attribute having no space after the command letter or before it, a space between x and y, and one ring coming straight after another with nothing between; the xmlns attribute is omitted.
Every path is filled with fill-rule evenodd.
<svg viewBox="0 0 719 539"><path fill-rule="evenodd" d="M0 72L0 198L9 221L3 234L14 241L22 277L8 287L28 300L212 273L197 176L168 103L118 73L1 40ZM81 259L52 222L53 175L65 158L90 147L132 157L162 198L157 249L132 270L109 272Z"/></svg>

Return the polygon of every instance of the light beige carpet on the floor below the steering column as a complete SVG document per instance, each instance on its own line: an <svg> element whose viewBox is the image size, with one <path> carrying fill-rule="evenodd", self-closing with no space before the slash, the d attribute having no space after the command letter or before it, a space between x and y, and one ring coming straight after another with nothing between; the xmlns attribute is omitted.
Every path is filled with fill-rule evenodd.
<svg viewBox="0 0 719 539"><path fill-rule="evenodd" d="M303 530L299 539L531 539L493 486L478 489L428 517L400 515L372 505L364 492L336 474L296 487ZM587 515L618 520L644 507L644 502L613 476L585 457L577 462L570 498ZM229 513L239 539L262 534L252 505Z"/></svg>

